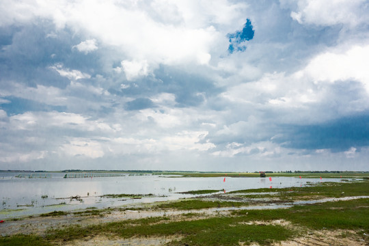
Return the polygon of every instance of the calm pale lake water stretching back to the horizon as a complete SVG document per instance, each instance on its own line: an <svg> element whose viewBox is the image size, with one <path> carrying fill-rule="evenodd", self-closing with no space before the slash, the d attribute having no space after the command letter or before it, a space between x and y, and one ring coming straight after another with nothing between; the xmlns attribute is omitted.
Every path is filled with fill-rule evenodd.
<svg viewBox="0 0 369 246"><path fill-rule="evenodd" d="M23 173L24 174L24 173ZM63 178L53 173L50 178L16 178L16 173L0 173L0 219L49 213L54 210L107 208L137 203L177 200L193 195L184 191L204 189L237 191L241 189L303 187L316 182L340 182L339 178L273 177L269 178L183 178L173 176L115 176L100 178ZM226 178L226 180L224 180ZM153 194L133 199L102 197L107 194ZM80 196L81 199L70 199Z"/></svg>

